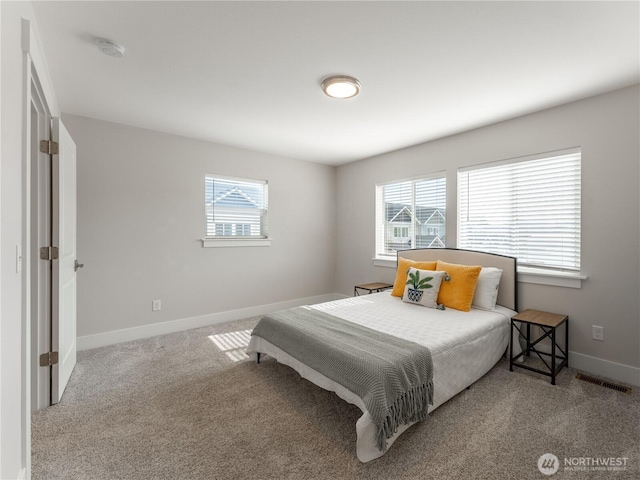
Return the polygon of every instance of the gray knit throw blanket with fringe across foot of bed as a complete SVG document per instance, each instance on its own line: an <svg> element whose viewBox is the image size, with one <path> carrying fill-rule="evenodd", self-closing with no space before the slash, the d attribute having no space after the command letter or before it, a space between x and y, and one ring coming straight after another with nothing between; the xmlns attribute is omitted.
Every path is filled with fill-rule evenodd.
<svg viewBox="0 0 640 480"><path fill-rule="evenodd" d="M428 348L306 307L260 319L252 335L358 395L387 449L400 425L424 420L433 404Z"/></svg>

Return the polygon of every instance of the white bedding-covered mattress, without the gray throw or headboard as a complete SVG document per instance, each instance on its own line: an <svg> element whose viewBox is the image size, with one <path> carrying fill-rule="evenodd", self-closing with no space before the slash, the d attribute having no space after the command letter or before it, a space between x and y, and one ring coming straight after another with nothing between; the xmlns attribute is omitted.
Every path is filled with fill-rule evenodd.
<svg viewBox="0 0 640 480"><path fill-rule="evenodd" d="M398 297L392 297L388 291L306 308L322 310L344 320L428 347L433 359L434 382L434 399L430 412L474 383L496 364L509 345L509 321L516 314L501 306L497 306L494 311L436 310L405 303ZM514 345L516 349L520 348L517 341ZM363 415L356 423L356 452L360 461L368 462L385 453L375 446L375 425L364 402L357 395L263 338L252 336L247 353L255 360L257 352L289 365L303 378L335 392L340 398L362 410ZM409 426L403 426L389 439L389 447Z"/></svg>

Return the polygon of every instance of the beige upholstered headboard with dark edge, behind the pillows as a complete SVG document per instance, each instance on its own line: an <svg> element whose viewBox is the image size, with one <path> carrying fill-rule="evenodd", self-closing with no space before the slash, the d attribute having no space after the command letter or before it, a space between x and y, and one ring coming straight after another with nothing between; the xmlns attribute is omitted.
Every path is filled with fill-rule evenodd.
<svg viewBox="0 0 640 480"><path fill-rule="evenodd" d="M459 250L456 248L416 248L398 251L398 257L409 260L435 261L462 265L480 265L481 267L496 267L502 269L500 288L498 289L498 305L518 311L518 286L516 273L516 258L494 253L476 252L473 250Z"/></svg>

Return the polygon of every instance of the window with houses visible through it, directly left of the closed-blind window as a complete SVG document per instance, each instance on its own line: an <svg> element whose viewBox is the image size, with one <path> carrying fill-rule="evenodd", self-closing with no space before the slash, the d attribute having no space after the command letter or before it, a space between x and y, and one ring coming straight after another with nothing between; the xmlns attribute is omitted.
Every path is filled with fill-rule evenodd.
<svg viewBox="0 0 640 480"><path fill-rule="evenodd" d="M376 186L376 257L394 258L398 250L444 247L446 227L444 173Z"/></svg>

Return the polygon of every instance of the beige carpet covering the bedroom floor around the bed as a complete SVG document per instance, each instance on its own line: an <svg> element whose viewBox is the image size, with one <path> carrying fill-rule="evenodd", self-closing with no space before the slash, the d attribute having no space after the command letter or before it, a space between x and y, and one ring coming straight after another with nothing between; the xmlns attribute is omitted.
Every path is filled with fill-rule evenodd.
<svg viewBox="0 0 640 480"><path fill-rule="evenodd" d="M357 407L237 348L256 319L81 352L60 404L33 415L34 479L640 478L640 395L558 385L502 360L382 458L355 455ZM556 455L552 477L537 467ZM626 457L623 471L564 461ZM569 460L571 461L571 460Z"/></svg>

